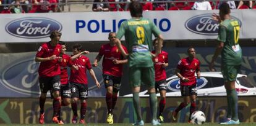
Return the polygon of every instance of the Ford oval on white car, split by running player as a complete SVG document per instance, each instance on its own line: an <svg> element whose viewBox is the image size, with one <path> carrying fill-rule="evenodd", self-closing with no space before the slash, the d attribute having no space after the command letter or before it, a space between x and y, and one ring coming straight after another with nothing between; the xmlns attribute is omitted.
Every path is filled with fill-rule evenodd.
<svg viewBox="0 0 256 126"><path fill-rule="evenodd" d="M205 77L200 77L200 79L197 79L197 89L201 89L207 84L207 79ZM179 81L179 78L172 79L167 83L167 89L174 91L174 92L179 92L181 90L181 84Z"/></svg>

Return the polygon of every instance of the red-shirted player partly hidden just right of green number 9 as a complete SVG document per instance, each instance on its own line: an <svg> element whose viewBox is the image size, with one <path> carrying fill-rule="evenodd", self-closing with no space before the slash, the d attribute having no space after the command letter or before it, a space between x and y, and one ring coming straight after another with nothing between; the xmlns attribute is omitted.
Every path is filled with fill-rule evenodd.
<svg viewBox="0 0 256 126"><path fill-rule="evenodd" d="M157 47L158 40L153 41L155 47ZM155 50L151 53L155 54ZM163 50L160 51L158 56L153 57L153 63L155 68L155 89L160 92L160 103L159 103L159 115L158 120L164 122L163 110L166 104L166 71L165 68L168 64L168 53Z"/></svg>

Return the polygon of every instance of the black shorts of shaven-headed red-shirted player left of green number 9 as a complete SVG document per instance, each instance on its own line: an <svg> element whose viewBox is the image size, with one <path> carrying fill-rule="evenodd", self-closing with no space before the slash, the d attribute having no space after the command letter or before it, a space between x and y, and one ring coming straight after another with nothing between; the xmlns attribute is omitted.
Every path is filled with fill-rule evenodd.
<svg viewBox="0 0 256 126"><path fill-rule="evenodd" d="M119 91L121 87L121 77L115 77L108 74L103 74L105 88L113 86L113 91Z"/></svg>

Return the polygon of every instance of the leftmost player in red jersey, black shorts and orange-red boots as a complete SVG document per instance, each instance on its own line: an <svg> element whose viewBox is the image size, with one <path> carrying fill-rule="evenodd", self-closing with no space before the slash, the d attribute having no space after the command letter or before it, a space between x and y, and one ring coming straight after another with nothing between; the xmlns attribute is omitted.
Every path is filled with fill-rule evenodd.
<svg viewBox="0 0 256 126"><path fill-rule="evenodd" d="M38 69L39 82L40 82L40 118L39 123L43 124L44 120L44 107L46 94L48 90L53 92L53 122L58 123L58 112L61 108L61 82L59 74L61 74L61 67L59 66L58 59L61 53L61 45L58 44L61 38L61 33L59 31L53 31L50 35L51 41L46 42L40 46L38 52L36 53L36 62L40 62Z"/></svg>

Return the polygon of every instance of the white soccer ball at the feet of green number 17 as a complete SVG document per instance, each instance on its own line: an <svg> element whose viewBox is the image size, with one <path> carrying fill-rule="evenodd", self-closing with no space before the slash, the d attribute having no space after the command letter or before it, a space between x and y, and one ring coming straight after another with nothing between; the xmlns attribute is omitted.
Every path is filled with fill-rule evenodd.
<svg viewBox="0 0 256 126"><path fill-rule="evenodd" d="M206 117L202 111L194 111L190 119L193 124L201 125L205 122Z"/></svg>

